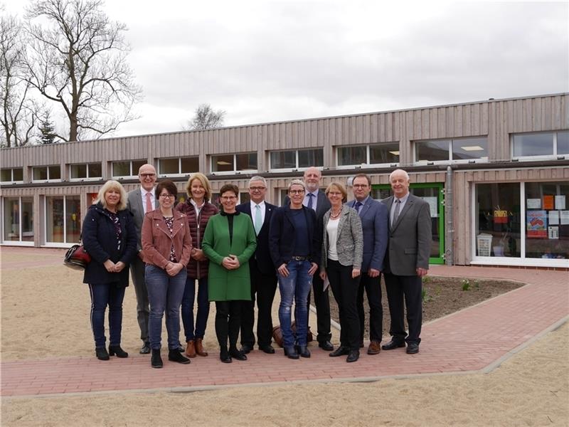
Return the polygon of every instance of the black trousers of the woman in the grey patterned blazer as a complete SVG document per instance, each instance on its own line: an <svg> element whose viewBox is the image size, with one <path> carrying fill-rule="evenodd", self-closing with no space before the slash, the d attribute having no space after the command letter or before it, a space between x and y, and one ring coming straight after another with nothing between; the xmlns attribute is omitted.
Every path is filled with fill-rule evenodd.
<svg viewBox="0 0 569 427"><path fill-rule="evenodd" d="M340 317L340 345L351 350L360 348L360 326L356 299L360 278L351 277L352 265L341 265L338 261L328 260L326 274L330 288L338 302Z"/></svg>

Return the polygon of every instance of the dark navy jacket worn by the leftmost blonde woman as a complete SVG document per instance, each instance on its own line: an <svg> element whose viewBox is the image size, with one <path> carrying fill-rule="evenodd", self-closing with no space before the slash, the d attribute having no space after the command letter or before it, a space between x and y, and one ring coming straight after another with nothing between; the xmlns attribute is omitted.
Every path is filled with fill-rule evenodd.
<svg viewBox="0 0 569 427"><path fill-rule="evenodd" d="M101 204L92 205L87 209L83 220L83 246L91 255L91 262L85 268L83 283L119 283L129 285L129 263L137 253L137 230L134 227L132 214L124 209L118 211L121 234L121 245L117 248L115 226L110 215ZM122 261L126 266L120 273L109 273L105 268L106 260L113 263Z"/></svg>

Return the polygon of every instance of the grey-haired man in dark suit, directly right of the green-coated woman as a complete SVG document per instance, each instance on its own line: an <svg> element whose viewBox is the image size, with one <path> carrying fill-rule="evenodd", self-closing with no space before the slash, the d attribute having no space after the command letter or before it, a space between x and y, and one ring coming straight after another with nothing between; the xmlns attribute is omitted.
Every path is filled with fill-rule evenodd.
<svg viewBox="0 0 569 427"><path fill-rule="evenodd" d="M272 339L272 302L277 291L277 273L269 251L269 226L271 216L277 206L265 201L267 181L262 176L253 176L249 180L251 201L240 204L237 210L251 217L257 249L249 260L251 276L251 300L243 302L241 315L241 351L249 353L255 345L253 324L255 323L255 294L257 295L257 343L259 349L273 354Z"/></svg>

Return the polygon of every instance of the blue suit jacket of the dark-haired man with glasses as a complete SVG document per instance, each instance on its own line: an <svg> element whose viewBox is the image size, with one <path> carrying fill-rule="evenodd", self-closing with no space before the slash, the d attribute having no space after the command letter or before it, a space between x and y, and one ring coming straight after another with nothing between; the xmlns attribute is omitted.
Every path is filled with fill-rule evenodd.
<svg viewBox="0 0 569 427"><path fill-rule="evenodd" d="M356 209L356 200L348 202L348 206ZM368 198L360 212L363 229L363 261L361 270L366 273L370 268L383 271L383 260L387 250L389 232L389 211L385 204Z"/></svg>

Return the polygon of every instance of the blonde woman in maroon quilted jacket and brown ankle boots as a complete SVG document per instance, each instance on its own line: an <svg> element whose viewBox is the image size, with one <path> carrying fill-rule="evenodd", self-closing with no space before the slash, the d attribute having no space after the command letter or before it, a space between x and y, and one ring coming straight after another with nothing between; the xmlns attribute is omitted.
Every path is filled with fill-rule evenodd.
<svg viewBox="0 0 569 427"><path fill-rule="evenodd" d="M207 356L203 349L203 336L209 316L208 300L208 267L209 260L201 249L203 231L206 230L209 218L216 215L219 209L210 203L211 186L206 175L191 174L186 184L188 199L176 206L176 210L188 217L193 248L188 263L188 278L182 297L181 316L186 335L186 356ZM193 321L193 302L196 300L196 280L198 282L198 311L196 322ZM195 326L194 326L195 325Z"/></svg>

